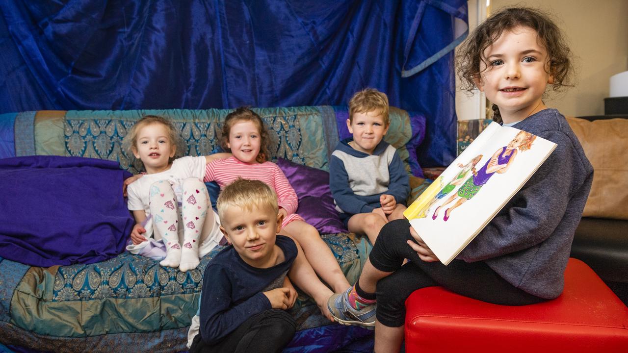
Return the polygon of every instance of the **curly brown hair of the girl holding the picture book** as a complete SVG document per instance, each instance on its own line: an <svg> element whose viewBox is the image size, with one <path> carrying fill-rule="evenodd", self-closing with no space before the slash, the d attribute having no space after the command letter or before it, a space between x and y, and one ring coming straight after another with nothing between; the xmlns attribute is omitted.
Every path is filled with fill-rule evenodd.
<svg viewBox="0 0 628 353"><path fill-rule="evenodd" d="M480 64L486 60L484 51L504 31L518 26L528 27L538 33L539 44L548 53L548 73L554 78L552 89L557 91L573 84L573 56L560 28L547 15L532 8L506 8L492 14L467 37L458 48L457 72L462 89L471 92L475 81L480 79ZM501 122L499 108L493 105L495 121Z"/></svg>

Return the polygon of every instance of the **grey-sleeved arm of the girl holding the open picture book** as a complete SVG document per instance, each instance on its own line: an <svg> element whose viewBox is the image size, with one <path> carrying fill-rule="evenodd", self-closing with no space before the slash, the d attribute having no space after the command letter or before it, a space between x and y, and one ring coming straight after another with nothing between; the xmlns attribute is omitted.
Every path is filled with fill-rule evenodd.
<svg viewBox="0 0 628 353"><path fill-rule="evenodd" d="M553 234L573 195L582 192L580 187L588 176L573 173L583 168L578 168L582 161L570 139L560 131L537 135L558 146L458 259L482 261L536 246Z"/></svg>

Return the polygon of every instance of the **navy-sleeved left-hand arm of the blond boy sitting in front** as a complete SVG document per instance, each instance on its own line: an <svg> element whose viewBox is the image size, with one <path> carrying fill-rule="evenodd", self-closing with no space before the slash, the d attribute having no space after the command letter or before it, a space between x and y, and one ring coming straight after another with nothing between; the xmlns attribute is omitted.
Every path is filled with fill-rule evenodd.
<svg viewBox="0 0 628 353"><path fill-rule="evenodd" d="M287 290L287 289L286 289ZM199 333L207 344L215 344L236 330L248 318L271 309L271 302L262 292L234 305L229 274L222 266L205 270L200 302Z"/></svg>

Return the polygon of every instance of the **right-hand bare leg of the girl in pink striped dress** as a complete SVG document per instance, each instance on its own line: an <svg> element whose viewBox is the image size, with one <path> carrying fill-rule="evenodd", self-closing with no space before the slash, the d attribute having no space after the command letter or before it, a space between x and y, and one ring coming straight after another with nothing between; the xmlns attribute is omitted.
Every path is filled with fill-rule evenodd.
<svg viewBox="0 0 628 353"><path fill-rule="evenodd" d="M351 286L332 251L321 239L315 227L302 220L294 220L279 234L289 236L299 242L311 267L325 283L332 287L335 293L340 293Z"/></svg>

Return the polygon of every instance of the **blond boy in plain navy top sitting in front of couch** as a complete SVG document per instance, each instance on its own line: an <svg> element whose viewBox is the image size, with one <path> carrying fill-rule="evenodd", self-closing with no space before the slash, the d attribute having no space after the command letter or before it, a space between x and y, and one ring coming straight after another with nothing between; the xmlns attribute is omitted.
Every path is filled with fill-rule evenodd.
<svg viewBox="0 0 628 353"><path fill-rule="evenodd" d="M217 209L230 245L205 269L190 352L281 352L296 326L285 311L296 300L286 274L300 260L295 242L277 235L277 196L263 182L237 179L222 190Z"/></svg>

